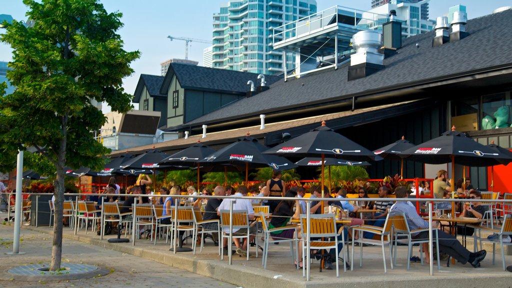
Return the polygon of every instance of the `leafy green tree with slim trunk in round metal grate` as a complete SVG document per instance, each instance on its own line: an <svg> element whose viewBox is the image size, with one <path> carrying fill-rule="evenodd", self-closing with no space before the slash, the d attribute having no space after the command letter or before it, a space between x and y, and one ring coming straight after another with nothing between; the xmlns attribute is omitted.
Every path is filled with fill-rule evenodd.
<svg viewBox="0 0 512 288"><path fill-rule="evenodd" d="M100 156L110 150L91 133L105 122L91 101L129 111L132 97L121 88L122 78L133 73L129 65L140 53L123 50L116 33L122 14L106 12L97 0L39 2L24 0L33 27L14 21L1 38L14 50L7 77L16 89L0 99L0 145L9 153L34 147L36 157L57 171L50 265L55 271L62 253L65 167L100 168Z"/></svg>

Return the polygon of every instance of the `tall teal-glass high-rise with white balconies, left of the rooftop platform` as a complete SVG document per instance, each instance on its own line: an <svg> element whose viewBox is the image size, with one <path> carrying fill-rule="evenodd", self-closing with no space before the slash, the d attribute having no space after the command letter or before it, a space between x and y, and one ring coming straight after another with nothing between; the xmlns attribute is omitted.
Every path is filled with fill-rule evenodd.
<svg viewBox="0 0 512 288"><path fill-rule="evenodd" d="M316 13L315 0L240 0L214 14L212 66L251 73L283 72L283 52L272 47L272 29ZM289 57L291 69L292 55Z"/></svg>

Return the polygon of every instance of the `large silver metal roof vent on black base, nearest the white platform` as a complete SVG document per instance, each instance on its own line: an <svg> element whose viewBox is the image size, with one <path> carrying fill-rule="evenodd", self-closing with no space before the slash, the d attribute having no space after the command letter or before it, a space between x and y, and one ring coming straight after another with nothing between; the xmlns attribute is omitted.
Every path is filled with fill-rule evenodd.
<svg viewBox="0 0 512 288"><path fill-rule="evenodd" d="M359 31L352 36L352 47L356 52L350 56L349 81L366 77L384 68L384 54L379 52L382 47L382 34L376 31Z"/></svg>

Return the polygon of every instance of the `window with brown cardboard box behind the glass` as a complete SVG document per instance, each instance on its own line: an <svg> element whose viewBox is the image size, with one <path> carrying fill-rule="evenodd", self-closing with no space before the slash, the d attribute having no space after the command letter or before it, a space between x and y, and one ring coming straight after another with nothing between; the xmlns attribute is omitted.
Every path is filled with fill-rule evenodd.
<svg viewBox="0 0 512 288"><path fill-rule="evenodd" d="M478 130L478 98L453 100L452 126L459 132Z"/></svg>

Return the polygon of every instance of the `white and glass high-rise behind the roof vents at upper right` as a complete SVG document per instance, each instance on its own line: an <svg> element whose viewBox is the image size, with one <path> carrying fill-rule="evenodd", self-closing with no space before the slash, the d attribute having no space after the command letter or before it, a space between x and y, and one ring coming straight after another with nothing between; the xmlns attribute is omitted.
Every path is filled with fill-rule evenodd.
<svg viewBox="0 0 512 288"><path fill-rule="evenodd" d="M429 32L435 22L429 20L430 0L372 0L372 9L368 12L388 14L396 11L396 19L402 22L402 36L410 37ZM377 30L381 30L380 26Z"/></svg>

